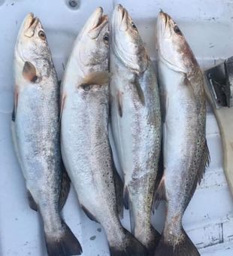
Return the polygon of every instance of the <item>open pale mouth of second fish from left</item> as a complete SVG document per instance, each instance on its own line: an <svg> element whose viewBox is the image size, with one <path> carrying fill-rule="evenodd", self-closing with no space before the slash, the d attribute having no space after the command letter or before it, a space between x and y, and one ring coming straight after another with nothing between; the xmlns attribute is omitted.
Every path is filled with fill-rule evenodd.
<svg viewBox="0 0 233 256"><path fill-rule="evenodd" d="M103 8L97 8L87 22L88 34L92 39L97 38L101 29L108 23L108 17L103 12Z"/></svg>

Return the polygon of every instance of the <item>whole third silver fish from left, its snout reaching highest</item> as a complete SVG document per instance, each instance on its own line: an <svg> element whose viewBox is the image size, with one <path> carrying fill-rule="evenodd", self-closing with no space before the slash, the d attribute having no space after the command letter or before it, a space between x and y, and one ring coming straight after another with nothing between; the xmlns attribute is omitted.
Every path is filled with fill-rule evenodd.
<svg viewBox="0 0 233 256"><path fill-rule="evenodd" d="M156 72L122 5L116 5L110 28L111 128L124 175L124 202L132 233L151 253L159 238L150 218L162 136Z"/></svg>

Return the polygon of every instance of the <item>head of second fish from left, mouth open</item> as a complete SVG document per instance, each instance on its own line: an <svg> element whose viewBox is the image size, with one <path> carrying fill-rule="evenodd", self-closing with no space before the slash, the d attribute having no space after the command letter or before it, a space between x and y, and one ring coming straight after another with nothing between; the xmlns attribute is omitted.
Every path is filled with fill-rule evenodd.
<svg viewBox="0 0 233 256"><path fill-rule="evenodd" d="M79 63L84 66L106 66L109 52L108 17L101 7L96 8L78 38L77 52ZM75 51L75 50L74 50Z"/></svg>

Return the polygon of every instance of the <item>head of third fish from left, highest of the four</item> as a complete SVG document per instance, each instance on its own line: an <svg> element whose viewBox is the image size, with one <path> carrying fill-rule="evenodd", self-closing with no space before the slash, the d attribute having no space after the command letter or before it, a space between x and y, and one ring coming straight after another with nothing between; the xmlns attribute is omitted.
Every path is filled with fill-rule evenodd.
<svg viewBox="0 0 233 256"><path fill-rule="evenodd" d="M132 17L122 5L116 5L110 28L111 47L116 56L135 72L144 72L148 66L147 50Z"/></svg>

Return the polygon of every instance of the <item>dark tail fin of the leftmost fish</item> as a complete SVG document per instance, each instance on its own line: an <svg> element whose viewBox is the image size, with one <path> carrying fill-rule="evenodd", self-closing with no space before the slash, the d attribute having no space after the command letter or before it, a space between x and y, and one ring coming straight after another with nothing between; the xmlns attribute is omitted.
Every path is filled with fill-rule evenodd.
<svg viewBox="0 0 233 256"><path fill-rule="evenodd" d="M52 234L45 234L46 247L48 255L50 256L68 256L68 255L80 255L82 253L82 247L80 242L74 236L74 233L65 224L63 225L62 235L55 236Z"/></svg>

